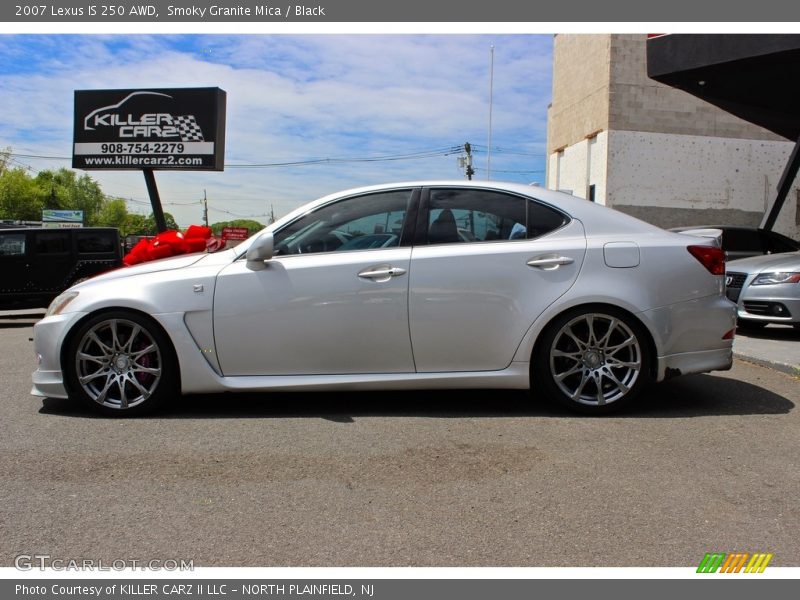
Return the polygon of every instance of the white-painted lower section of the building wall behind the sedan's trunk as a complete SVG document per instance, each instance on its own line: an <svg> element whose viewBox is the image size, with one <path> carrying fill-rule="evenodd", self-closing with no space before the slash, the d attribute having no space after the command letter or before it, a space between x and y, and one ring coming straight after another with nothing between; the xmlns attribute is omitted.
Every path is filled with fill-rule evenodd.
<svg viewBox="0 0 800 600"><path fill-rule="evenodd" d="M661 227L759 225L793 147L639 131L609 137L610 204Z"/></svg>

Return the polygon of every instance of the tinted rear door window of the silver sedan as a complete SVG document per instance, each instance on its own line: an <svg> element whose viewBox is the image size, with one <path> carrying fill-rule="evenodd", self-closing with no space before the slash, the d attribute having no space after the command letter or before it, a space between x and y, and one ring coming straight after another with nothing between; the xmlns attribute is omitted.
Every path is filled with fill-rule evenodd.
<svg viewBox="0 0 800 600"><path fill-rule="evenodd" d="M558 211L492 190L432 189L428 243L533 239L566 223Z"/></svg>

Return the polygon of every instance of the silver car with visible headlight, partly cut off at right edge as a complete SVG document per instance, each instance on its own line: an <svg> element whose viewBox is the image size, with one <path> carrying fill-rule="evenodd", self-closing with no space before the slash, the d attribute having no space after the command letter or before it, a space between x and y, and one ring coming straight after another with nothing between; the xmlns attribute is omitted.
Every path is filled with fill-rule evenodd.
<svg viewBox="0 0 800 600"><path fill-rule="evenodd" d="M741 327L783 323L800 328L800 252L732 261L725 283Z"/></svg>

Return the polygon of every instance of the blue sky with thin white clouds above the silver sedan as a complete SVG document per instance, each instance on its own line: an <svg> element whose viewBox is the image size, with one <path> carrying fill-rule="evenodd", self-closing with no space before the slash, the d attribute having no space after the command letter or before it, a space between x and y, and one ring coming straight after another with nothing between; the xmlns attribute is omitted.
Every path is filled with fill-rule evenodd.
<svg viewBox="0 0 800 600"><path fill-rule="evenodd" d="M352 187L463 179L465 142L475 179L488 166L493 180L544 184L551 70L550 35L0 35L0 148L32 173L70 167L74 90L220 87L225 170L156 172L182 227L201 222L204 193L211 223L266 222ZM433 156L375 160L408 154ZM315 159L336 162L242 166ZM87 173L151 212L141 172Z"/></svg>

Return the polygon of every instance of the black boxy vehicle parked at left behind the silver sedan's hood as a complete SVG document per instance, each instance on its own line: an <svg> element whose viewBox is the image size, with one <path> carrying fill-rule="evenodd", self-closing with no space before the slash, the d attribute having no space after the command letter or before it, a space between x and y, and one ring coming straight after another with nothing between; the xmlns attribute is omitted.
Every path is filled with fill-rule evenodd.
<svg viewBox="0 0 800 600"><path fill-rule="evenodd" d="M0 229L0 309L44 308L71 285L121 264L112 227Z"/></svg>

